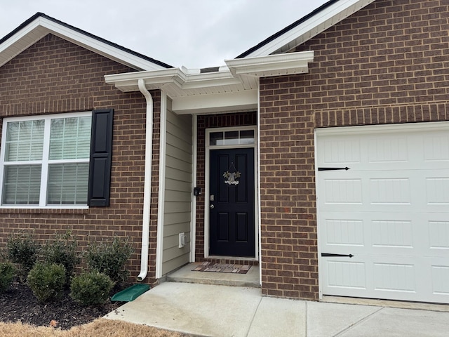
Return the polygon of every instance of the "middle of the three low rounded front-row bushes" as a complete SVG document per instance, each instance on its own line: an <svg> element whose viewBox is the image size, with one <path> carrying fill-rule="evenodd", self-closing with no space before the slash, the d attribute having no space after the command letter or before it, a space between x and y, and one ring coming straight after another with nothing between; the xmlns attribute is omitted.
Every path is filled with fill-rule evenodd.
<svg viewBox="0 0 449 337"><path fill-rule="evenodd" d="M38 262L29 271L27 283L39 302L57 299L65 286L65 267Z"/></svg>

